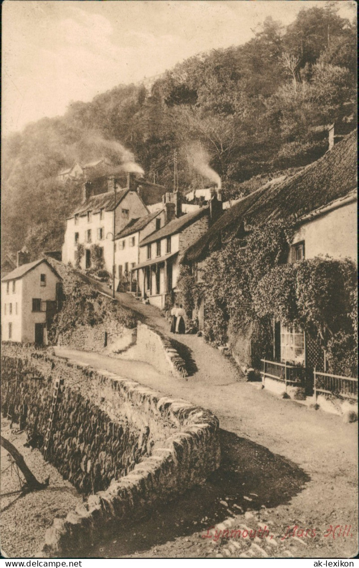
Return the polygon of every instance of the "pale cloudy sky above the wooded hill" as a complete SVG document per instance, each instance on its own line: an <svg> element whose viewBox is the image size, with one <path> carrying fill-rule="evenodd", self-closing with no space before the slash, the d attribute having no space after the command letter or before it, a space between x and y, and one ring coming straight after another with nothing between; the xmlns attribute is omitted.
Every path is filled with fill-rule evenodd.
<svg viewBox="0 0 359 568"><path fill-rule="evenodd" d="M352 20L356 3L333 0ZM121 83L250 40L267 16L288 25L323 0L5 0L2 132L64 114Z"/></svg>

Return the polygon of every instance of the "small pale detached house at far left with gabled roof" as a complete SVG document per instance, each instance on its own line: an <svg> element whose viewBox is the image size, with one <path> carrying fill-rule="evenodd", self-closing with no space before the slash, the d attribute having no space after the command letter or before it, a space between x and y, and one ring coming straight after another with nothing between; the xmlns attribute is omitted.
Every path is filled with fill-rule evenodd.
<svg viewBox="0 0 359 568"><path fill-rule="evenodd" d="M23 264L1 279L1 339L47 343L61 277L45 258Z"/></svg>

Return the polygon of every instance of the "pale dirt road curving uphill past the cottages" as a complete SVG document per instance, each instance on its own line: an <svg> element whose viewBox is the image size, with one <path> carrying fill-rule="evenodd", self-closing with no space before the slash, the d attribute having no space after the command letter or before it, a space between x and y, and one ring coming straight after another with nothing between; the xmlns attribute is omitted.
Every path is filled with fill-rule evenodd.
<svg viewBox="0 0 359 568"><path fill-rule="evenodd" d="M153 318L164 329L164 319ZM156 320L151 318L151 323ZM155 390L210 408L222 428L222 465L204 485L140 525L90 547L88 556L348 558L356 554L357 424L343 424L339 416L237 382L235 367L217 349L196 336L176 339L186 342L197 366L188 380L164 377L136 360L140 358L136 347L118 360L56 350L82 364L135 380L141 377L142 384ZM254 533L260 525L263 535ZM288 531L295 526L294 533ZM227 529L229 533L223 532ZM285 538L287 532L290 536Z"/></svg>

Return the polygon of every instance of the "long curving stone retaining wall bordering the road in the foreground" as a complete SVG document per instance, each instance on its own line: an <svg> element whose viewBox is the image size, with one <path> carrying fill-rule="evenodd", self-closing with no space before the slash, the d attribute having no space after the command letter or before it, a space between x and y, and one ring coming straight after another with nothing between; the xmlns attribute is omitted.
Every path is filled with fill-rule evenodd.
<svg viewBox="0 0 359 568"><path fill-rule="evenodd" d="M74 421L77 419L77 410L71 411L73 420L70 419L68 427L65 424L65 429L60 432L60 444L65 444L69 438L71 440L69 430L73 426L81 428L83 421L95 423L96 416L102 416L99 429L106 433L103 444L112 438L119 439L119 430L113 424L119 428L121 421L121 424L125 421L133 436L128 437L128 441L134 443L134 453L142 448L137 462L134 459L126 470L123 467L120 477L113 475L107 489L90 495L87 502L69 512L65 519L54 519L53 526L45 534L40 556L81 556L82 552L88 550L90 540L96 541L108 535L109 531L127 528L150 512L151 508L204 481L219 466L219 424L216 416L209 411L184 400L162 396L137 382L107 371L74 365L20 344L3 345L2 366L3 385L9 380L16 385L13 379L19 375L18 389L21 384L20 388L27 387L25 390L34 392L33 406L31 398L23 399L14 394L14 408L10 408L10 411L15 418L25 414L27 420L31 412L35 418L36 406L37 416L43 413L40 422L44 423L50 412L49 388L54 381L64 379L62 406L67 404L67 393L69 399L75 402L79 400L76 396L81 395L82 414L77 424ZM24 375L24 371L30 373ZM35 381L38 386L34 386ZM36 394L41 389L45 392L42 400ZM27 401L30 410L24 412L22 400ZM9 397L6 398L6 404L4 410L9 413ZM99 414L101 412L103 414ZM78 436L78 431L76 434ZM107 448L103 451L110 454ZM91 471L88 444L81 442L77 452L81 454L79 469ZM65 451L62 460L66 459ZM121 456L117 459L120 460ZM116 458L112 463L117 464Z"/></svg>

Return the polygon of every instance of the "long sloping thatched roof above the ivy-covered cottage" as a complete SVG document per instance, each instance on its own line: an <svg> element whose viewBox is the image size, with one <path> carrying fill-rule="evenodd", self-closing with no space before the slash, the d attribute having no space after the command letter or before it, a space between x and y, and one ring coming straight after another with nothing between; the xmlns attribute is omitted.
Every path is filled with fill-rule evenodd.
<svg viewBox="0 0 359 568"><path fill-rule="evenodd" d="M182 262L196 262L218 247L222 237L235 236L245 224L298 218L357 187L357 131L350 132L322 158L281 183L267 183L240 199L209 231L189 247Z"/></svg>

